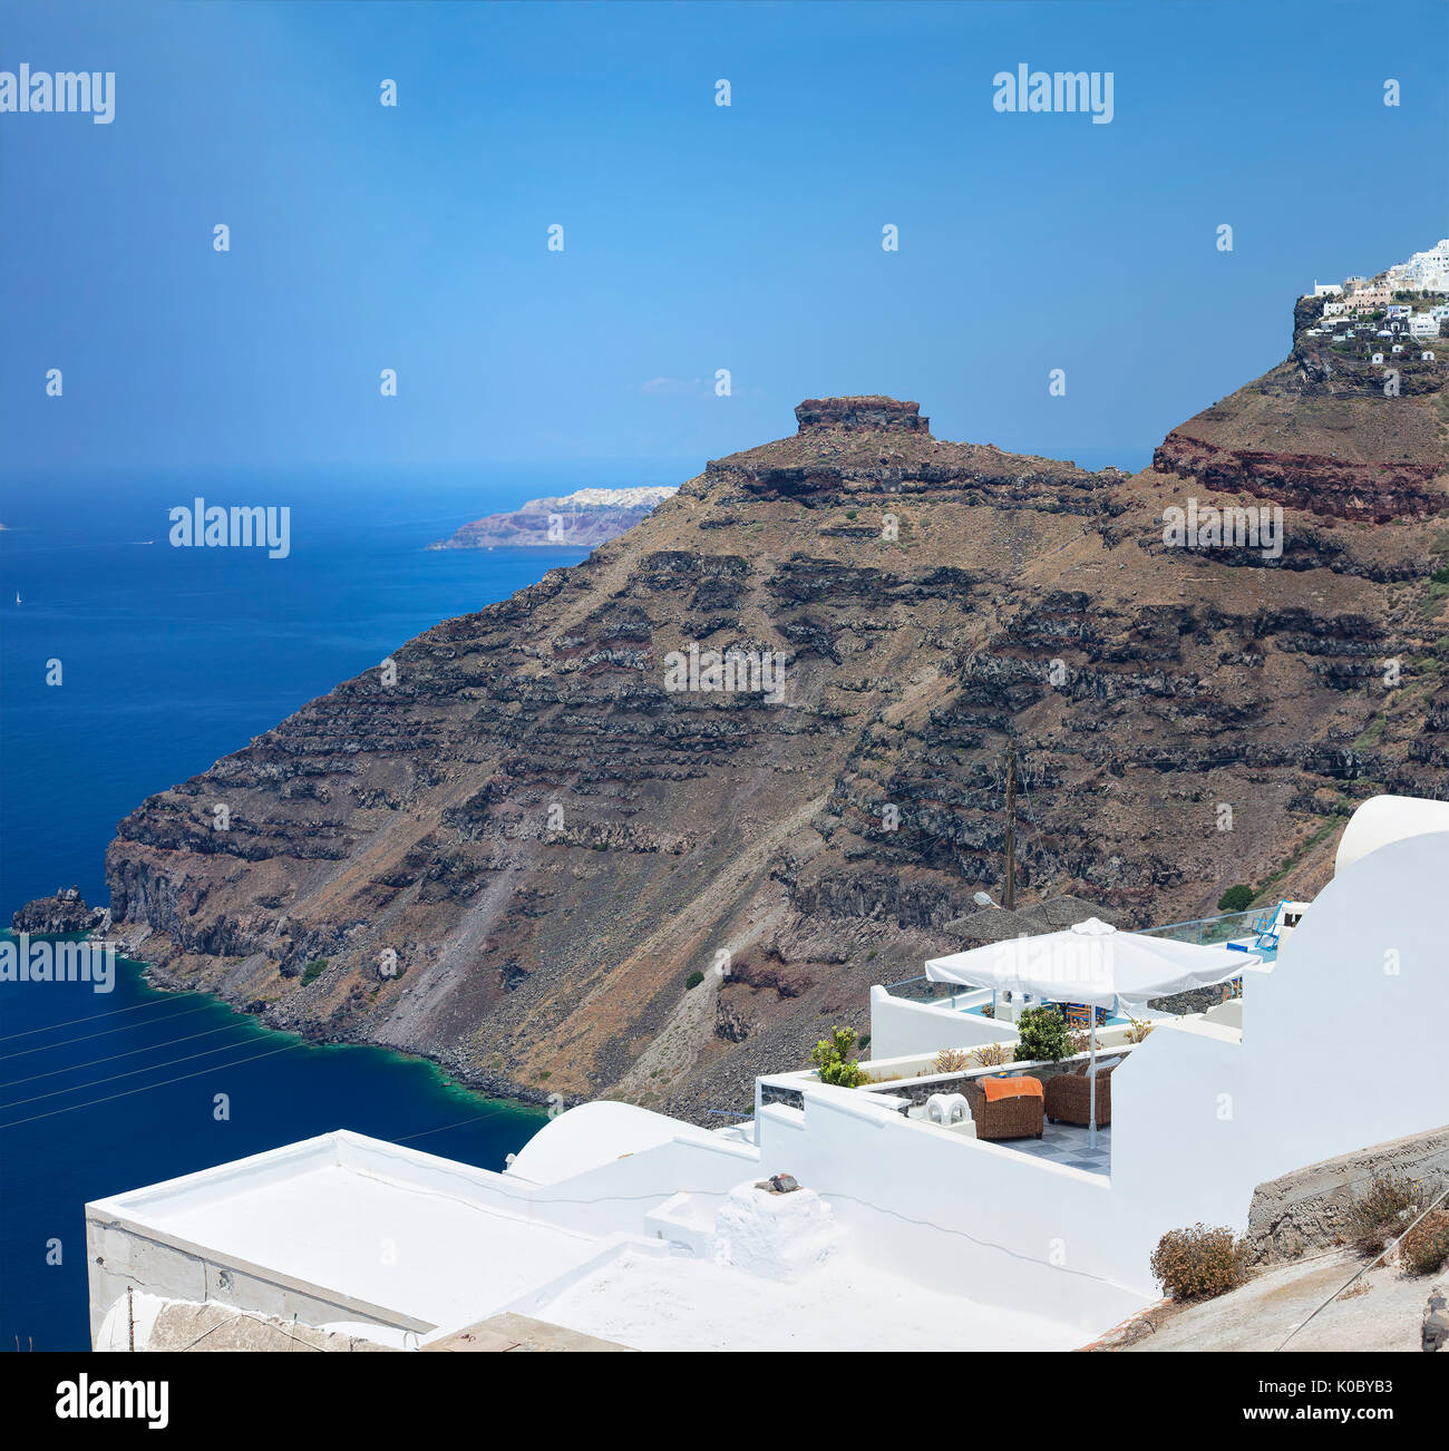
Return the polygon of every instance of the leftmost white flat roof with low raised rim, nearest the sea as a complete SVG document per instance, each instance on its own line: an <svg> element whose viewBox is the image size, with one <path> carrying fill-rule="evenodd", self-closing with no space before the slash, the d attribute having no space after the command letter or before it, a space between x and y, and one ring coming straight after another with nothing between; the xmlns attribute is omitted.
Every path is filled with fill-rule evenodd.
<svg viewBox="0 0 1449 1451"><path fill-rule="evenodd" d="M488 1184L497 1178L340 1132L86 1209L93 1220L115 1219L224 1264L454 1328L607 1242L513 1213Z"/></svg>

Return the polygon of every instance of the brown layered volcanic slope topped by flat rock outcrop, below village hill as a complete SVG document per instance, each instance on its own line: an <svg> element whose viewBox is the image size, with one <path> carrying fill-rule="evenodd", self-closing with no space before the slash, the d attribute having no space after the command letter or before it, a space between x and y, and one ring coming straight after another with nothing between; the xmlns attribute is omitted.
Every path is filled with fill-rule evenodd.
<svg viewBox="0 0 1449 1451"><path fill-rule="evenodd" d="M1272 563L1169 548L1169 473L945 443L891 399L797 416L134 811L112 907L157 975L703 1114L957 946L1002 875L1008 741L1022 900L1124 926L1311 894L1356 800L1442 794L1449 543L1414 509L1285 499ZM671 688L691 646L770 651L783 698Z"/></svg>

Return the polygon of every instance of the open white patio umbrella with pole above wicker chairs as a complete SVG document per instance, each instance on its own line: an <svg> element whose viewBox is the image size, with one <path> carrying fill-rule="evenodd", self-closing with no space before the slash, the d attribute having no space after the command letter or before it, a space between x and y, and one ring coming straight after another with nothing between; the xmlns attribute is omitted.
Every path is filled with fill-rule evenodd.
<svg viewBox="0 0 1449 1451"><path fill-rule="evenodd" d="M1191 988L1211 987L1237 977L1253 953L1205 948L1170 937L1118 932L1096 917L1061 932L1037 937L1011 937L948 958L932 958L932 982L993 991L1031 992L1058 1003L1119 1008L1125 1003L1169 997ZM1096 1143L1096 1013L1092 1026L1090 1142Z"/></svg>

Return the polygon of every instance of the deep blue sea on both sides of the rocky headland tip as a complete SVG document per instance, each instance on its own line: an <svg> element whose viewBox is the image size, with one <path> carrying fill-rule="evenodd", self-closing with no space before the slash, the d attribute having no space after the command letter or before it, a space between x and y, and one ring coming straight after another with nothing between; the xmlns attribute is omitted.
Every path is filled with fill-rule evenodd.
<svg viewBox="0 0 1449 1451"><path fill-rule="evenodd" d="M539 495L690 472L682 461L672 473L616 463L489 476L9 479L0 921L73 884L103 905L106 843L147 795L440 620L581 557L427 551L431 540ZM171 547L167 509L197 495L286 503L289 557ZM216 1094L228 1096L225 1120ZM89 1345L87 1200L337 1127L501 1168L542 1122L427 1064L311 1048L206 995L152 991L134 965L107 995L0 984L0 1345Z"/></svg>

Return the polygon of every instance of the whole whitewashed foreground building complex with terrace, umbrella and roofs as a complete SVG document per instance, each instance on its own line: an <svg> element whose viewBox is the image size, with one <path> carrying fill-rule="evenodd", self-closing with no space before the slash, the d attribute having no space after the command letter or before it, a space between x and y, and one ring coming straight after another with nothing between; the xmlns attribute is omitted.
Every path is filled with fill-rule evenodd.
<svg viewBox="0 0 1449 1451"><path fill-rule="evenodd" d="M1134 933L1073 898L986 898L977 946L871 990L870 1059L765 1074L713 1130L592 1101L501 1172L335 1132L116 1193L86 1206L93 1344L226 1323L338 1349L1122 1335L1159 1300L1166 1232L1282 1249L1305 1196L1362 1164L1343 1156L1449 1119L1446 881L1449 804L1374 797L1313 903ZM1073 1051L1016 1058L1044 1006Z"/></svg>

